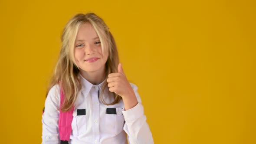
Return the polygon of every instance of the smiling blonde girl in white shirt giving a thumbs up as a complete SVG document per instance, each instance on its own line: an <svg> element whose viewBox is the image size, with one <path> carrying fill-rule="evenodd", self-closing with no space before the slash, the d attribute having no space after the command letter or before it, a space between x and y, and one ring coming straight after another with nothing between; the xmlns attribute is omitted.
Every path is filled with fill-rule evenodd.
<svg viewBox="0 0 256 144"><path fill-rule="evenodd" d="M62 33L42 144L127 144L126 134L129 144L153 144L137 89L104 21L94 13L75 15Z"/></svg>

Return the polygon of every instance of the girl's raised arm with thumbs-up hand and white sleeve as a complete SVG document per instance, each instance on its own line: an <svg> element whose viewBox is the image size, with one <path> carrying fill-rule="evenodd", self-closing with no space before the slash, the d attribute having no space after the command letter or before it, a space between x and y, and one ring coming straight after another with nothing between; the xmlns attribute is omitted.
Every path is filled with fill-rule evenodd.
<svg viewBox="0 0 256 144"><path fill-rule="evenodd" d="M124 130L128 134L129 143L154 144L141 98L137 92L138 87L128 82L121 63L118 65L118 72L108 75L107 82L109 91L120 95L124 101L125 109L122 111L125 117Z"/></svg>

